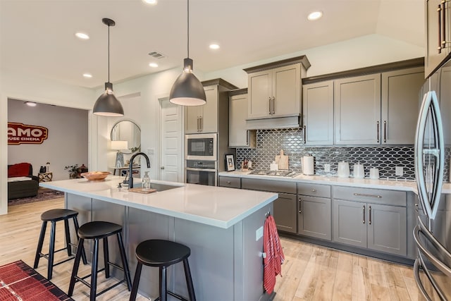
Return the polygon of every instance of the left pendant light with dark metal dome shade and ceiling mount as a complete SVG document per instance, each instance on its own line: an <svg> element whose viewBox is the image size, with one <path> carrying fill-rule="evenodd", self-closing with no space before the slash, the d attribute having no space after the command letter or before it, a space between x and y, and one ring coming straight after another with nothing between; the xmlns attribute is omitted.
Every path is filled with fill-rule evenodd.
<svg viewBox="0 0 451 301"><path fill-rule="evenodd" d="M116 23L109 18L103 18L101 21L108 26L108 82L105 82L105 92L97 99L92 112L100 116L124 116L124 109L114 96L113 84L110 82L110 26Z"/></svg>

